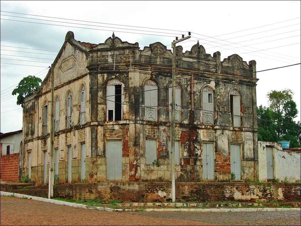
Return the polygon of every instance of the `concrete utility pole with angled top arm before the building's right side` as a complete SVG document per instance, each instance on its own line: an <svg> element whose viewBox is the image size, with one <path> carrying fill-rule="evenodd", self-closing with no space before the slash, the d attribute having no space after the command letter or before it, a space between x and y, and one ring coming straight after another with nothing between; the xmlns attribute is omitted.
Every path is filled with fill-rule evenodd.
<svg viewBox="0 0 301 226"><path fill-rule="evenodd" d="M187 36L185 38L174 40L171 43L172 47L172 101L171 101L171 131L170 131L170 156L169 156L169 164L171 171L171 192L172 192L172 202L175 202L175 44L178 42L182 42L186 39L191 38L191 36Z"/></svg>

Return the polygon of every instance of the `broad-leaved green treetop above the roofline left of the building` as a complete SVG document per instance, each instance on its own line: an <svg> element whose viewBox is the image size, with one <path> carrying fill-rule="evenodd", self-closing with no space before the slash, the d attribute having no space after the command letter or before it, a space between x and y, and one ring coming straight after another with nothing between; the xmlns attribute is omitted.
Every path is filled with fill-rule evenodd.
<svg viewBox="0 0 301 226"><path fill-rule="evenodd" d="M24 99L34 94L34 92L38 91L40 87L40 83L42 83L42 79L37 78L36 76L27 76L24 77L20 82L17 88L13 90L12 95L17 95L17 105L21 105L23 107Z"/></svg>

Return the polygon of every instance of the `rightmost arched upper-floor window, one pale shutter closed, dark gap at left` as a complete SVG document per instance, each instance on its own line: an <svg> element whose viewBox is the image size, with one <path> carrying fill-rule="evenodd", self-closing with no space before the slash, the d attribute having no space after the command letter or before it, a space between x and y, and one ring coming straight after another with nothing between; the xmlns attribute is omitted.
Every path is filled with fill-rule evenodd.
<svg viewBox="0 0 301 226"><path fill-rule="evenodd" d="M232 126L240 127L240 95L236 90L230 93L230 109Z"/></svg>

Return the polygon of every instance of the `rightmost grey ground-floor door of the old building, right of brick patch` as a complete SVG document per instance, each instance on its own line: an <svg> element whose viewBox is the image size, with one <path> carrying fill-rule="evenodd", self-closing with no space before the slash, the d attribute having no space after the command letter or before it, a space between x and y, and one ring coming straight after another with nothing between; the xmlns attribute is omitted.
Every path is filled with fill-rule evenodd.
<svg viewBox="0 0 301 226"><path fill-rule="evenodd" d="M230 145L230 162L231 162L231 174L235 175L235 180L241 178L241 161L240 161L240 144ZM232 177L232 179L234 179Z"/></svg>

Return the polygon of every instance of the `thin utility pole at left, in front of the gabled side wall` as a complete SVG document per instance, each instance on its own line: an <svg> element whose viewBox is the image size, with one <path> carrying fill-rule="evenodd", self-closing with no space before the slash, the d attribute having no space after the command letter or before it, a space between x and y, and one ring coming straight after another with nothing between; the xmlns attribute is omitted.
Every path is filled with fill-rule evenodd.
<svg viewBox="0 0 301 226"><path fill-rule="evenodd" d="M53 184L54 184L54 162L53 162L53 147L54 147L54 68L51 64L51 120L50 120L50 137L51 148L49 151L49 182L48 182L48 199L53 197Z"/></svg>

